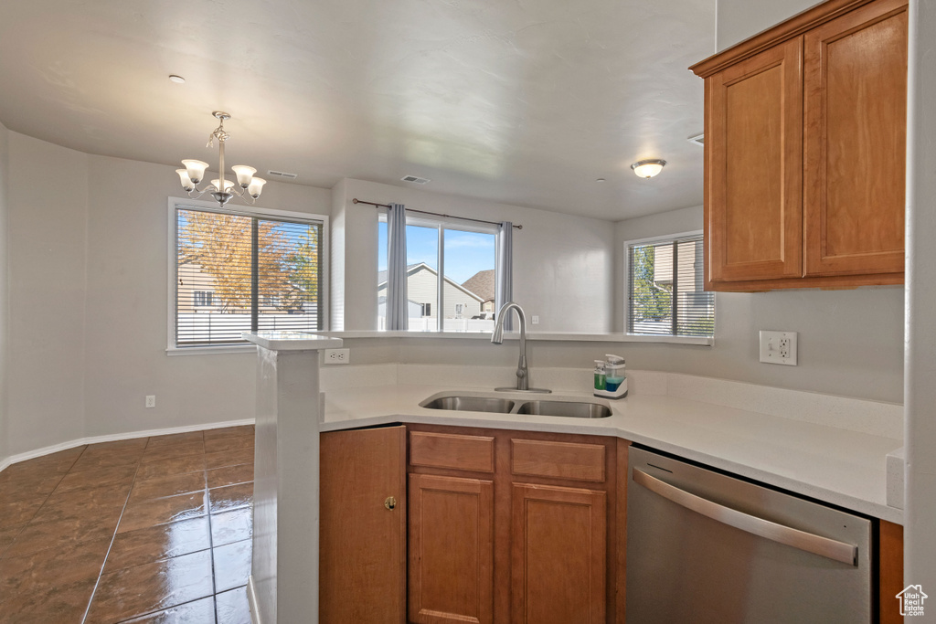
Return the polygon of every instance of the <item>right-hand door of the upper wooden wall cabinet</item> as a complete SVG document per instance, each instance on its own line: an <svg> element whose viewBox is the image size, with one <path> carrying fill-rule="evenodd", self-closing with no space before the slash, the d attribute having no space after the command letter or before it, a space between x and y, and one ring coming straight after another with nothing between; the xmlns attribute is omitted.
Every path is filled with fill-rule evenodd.
<svg viewBox="0 0 936 624"><path fill-rule="evenodd" d="M806 274L903 272L906 0L805 36Z"/></svg>

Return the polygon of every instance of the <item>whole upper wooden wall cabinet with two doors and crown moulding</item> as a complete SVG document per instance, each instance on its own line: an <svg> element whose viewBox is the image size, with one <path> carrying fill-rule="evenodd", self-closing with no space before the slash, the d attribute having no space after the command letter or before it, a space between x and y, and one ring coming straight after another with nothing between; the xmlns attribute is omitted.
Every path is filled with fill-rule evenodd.
<svg viewBox="0 0 936 624"><path fill-rule="evenodd" d="M906 0L829 0L692 70L707 289L902 283Z"/></svg>

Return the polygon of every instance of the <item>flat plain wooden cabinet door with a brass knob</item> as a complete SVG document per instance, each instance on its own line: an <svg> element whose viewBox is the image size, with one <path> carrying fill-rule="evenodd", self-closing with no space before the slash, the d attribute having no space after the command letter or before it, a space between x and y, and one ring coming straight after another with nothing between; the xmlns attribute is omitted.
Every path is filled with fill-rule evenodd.
<svg viewBox="0 0 936 624"><path fill-rule="evenodd" d="M406 429L330 431L320 440L319 621L402 624Z"/></svg>

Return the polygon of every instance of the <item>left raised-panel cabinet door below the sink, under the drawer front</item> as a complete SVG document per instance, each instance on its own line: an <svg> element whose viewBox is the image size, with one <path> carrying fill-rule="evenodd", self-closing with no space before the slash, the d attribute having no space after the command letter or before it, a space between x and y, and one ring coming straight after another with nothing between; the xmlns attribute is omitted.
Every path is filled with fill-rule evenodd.
<svg viewBox="0 0 936 624"><path fill-rule="evenodd" d="M410 474L409 619L493 619L494 484Z"/></svg>

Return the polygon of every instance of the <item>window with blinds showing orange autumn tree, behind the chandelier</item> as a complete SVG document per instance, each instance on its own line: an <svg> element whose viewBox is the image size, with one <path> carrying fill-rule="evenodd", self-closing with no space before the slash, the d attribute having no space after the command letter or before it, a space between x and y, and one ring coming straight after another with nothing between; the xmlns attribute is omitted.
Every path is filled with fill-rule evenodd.
<svg viewBox="0 0 936 624"><path fill-rule="evenodd" d="M322 223L177 206L175 346L321 328Z"/></svg>

